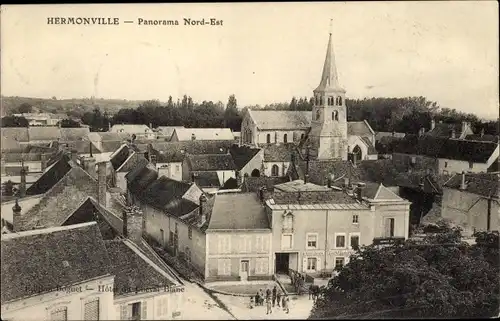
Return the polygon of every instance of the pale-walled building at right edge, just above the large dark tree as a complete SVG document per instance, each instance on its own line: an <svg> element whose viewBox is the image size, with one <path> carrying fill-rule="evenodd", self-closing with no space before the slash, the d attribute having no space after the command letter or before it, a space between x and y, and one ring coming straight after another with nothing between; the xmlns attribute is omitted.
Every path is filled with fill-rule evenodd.
<svg viewBox="0 0 500 321"><path fill-rule="evenodd" d="M441 216L470 236L474 231L498 231L498 173L461 173L443 186Z"/></svg>

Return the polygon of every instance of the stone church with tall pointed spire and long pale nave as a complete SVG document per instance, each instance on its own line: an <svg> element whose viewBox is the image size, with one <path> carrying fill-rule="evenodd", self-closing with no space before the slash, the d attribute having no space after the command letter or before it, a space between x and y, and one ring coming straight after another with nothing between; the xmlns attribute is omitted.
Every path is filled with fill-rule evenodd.
<svg viewBox="0 0 500 321"><path fill-rule="evenodd" d="M347 121L346 90L340 86L328 39L319 86L313 91L312 111L248 110L241 124L240 143L255 147L281 144L308 146L317 160L376 160L375 132L365 121Z"/></svg>

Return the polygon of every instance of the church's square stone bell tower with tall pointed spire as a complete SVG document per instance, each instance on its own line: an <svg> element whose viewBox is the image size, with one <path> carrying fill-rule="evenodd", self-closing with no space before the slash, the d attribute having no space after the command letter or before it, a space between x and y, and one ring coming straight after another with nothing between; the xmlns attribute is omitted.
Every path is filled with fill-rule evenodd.
<svg viewBox="0 0 500 321"><path fill-rule="evenodd" d="M331 28L330 20L330 30ZM317 159L347 160L346 91L339 84L331 31L321 81L313 93L309 137Z"/></svg>

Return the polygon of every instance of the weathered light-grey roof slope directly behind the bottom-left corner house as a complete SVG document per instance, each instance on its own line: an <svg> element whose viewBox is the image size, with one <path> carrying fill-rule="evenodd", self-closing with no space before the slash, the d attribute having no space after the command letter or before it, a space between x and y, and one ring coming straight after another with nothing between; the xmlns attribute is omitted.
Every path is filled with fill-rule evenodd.
<svg viewBox="0 0 500 321"><path fill-rule="evenodd" d="M80 167L73 167L38 204L21 216L21 230L60 226L89 196L97 199L97 193L96 180Z"/></svg>

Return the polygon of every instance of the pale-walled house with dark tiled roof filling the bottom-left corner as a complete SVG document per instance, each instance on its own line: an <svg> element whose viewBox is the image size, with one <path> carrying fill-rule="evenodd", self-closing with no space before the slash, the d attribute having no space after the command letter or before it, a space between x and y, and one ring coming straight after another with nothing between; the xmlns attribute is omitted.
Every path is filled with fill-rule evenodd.
<svg viewBox="0 0 500 321"><path fill-rule="evenodd" d="M114 319L114 276L95 222L2 235L3 320ZM50 250L48 250L50 249Z"/></svg>

